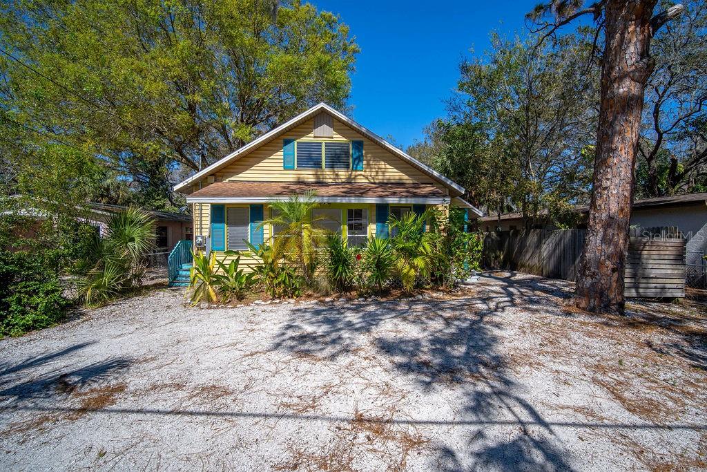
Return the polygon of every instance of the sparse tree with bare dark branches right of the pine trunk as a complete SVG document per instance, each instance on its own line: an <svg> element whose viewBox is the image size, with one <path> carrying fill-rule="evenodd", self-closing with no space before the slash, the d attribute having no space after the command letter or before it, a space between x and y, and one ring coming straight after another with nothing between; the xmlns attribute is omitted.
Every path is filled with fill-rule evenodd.
<svg viewBox="0 0 707 472"><path fill-rule="evenodd" d="M707 173L707 4L685 1L684 13L653 37L650 49L655 70L645 86L638 142L641 197L690 191Z"/></svg>

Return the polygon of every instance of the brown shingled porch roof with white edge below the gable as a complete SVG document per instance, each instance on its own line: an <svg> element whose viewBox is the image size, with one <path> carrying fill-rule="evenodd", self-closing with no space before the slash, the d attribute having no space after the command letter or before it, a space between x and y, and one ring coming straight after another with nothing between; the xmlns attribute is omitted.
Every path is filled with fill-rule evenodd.
<svg viewBox="0 0 707 472"><path fill-rule="evenodd" d="M216 182L187 195L187 202L267 202L315 190L321 202L449 202L444 190L419 183Z"/></svg>

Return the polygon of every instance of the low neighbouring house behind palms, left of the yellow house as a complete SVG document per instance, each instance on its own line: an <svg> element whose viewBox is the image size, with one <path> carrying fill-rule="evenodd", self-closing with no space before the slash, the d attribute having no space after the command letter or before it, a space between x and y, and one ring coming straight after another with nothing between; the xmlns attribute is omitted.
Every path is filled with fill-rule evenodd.
<svg viewBox="0 0 707 472"><path fill-rule="evenodd" d="M106 223L110 216L127 209L127 207L120 205L105 203L91 203L89 207L90 215L83 221L95 226L101 236L106 234ZM192 239L192 217L188 214L149 210L145 210L145 212L155 220L154 252L172 251L179 241Z"/></svg>

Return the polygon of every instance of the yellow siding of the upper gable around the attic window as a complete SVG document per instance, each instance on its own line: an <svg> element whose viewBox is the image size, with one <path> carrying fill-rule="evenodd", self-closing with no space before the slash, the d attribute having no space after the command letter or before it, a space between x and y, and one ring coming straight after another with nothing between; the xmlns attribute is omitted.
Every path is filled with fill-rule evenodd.
<svg viewBox="0 0 707 472"><path fill-rule="evenodd" d="M273 141L260 146L238 161L216 173L216 180L251 180L276 182L395 182L426 183L445 189L431 177L399 159L375 142L363 137L344 123L334 119L334 135L331 139L315 139L314 120L303 123ZM302 141L353 141L363 140L363 171L334 169L295 169L282 168L283 139ZM204 180L202 185L207 185Z"/></svg>

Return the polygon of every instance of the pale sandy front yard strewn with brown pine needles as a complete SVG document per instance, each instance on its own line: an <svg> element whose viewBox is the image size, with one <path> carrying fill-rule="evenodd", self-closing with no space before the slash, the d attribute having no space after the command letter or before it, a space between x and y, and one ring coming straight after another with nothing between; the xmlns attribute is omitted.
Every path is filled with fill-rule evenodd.
<svg viewBox="0 0 707 472"><path fill-rule="evenodd" d="M512 273L441 299L182 306L0 341L2 470L707 468L701 306L591 316Z"/></svg>

